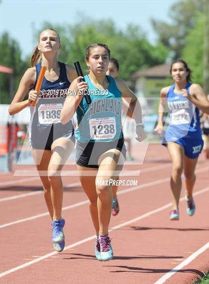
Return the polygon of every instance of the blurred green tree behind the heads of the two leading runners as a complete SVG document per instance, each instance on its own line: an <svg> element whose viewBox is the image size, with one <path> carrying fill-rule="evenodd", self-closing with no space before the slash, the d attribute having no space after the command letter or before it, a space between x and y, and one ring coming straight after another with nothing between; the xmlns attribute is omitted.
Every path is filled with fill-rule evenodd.
<svg viewBox="0 0 209 284"><path fill-rule="evenodd" d="M40 34L52 24L45 22ZM115 27L111 19L92 20L84 15L78 15L77 22L68 26L53 26L60 34L62 49L59 59L69 64L80 61L84 70L85 50L88 45L102 42L108 45L111 56L116 57L120 64L119 77L129 80L131 73L140 69L165 62L169 50L162 44L151 45L138 25L129 24L122 31Z"/></svg>

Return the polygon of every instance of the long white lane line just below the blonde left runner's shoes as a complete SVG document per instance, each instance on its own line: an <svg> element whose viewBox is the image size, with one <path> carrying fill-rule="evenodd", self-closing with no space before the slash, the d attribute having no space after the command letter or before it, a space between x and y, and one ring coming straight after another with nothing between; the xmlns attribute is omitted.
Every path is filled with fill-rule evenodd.
<svg viewBox="0 0 209 284"><path fill-rule="evenodd" d="M200 190L200 191L197 191L194 195L200 195L201 193L204 193L204 192L206 192L206 191L208 191L208 190L209 190L209 188L204 188L204 189L202 189L202 190ZM183 200L184 200L184 197L182 197L182 198L180 199L180 202L183 201ZM118 228L124 227L124 226L126 226L126 225L129 225L129 224L131 224L131 223L134 223L134 222L136 222L136 221L139 221L139 220L141 220L141 219L144 219L144 218L146 218L146 217L149 217L149 216L151 216L151 215L153 215L153 214L155 214L155 213L158 213L158 212L160 212L160 211L163 211L164 209L167 209L167 208L170 207L171 205L172 205L172 203L168 203L168 204L166 204L166 205L164 205L164 206L162 206L162 207L160 207L160 208L157 208L157 209L155 209L155 210L149 211L149 212L147 212L147 213L145 213L145 214L143 214L143 215L141 215L141 216L139 216L139 217L136 217L136 218L131 219L131 220L127 221L127 222L124 222L124 223L121 223L121 224L119 224L119 225L117 225L117 226L114 226L114 227L112 227L112 228L109 229L109 232L111 232L111 231L113 231L113 230L116 230L116 229L118 229ZM72 245L69 245L69 246L65 247L63 251L66 251L66 250L68 250L68 249L74 248L74 247L76 247L76 246L79 246L79 245L81 245L81 244L84 244L84 243L89 242L89 241L94 240L94 239L95 239L95 235L93 235L93 236L91 236L91 237L89 237L89 238L83 239L83 240L81 240L81 241L78 241L78 242L76 242L76 243L74 243L74 244L72 244ZM17 270L20 270L20 269L22 269L22 268L28 267L28 266L30 266L30 265L32 265L32 264L34 264L34 263L40 262L41 260L47 259L47 258L49 258L49 257L51 257L51 256L56 255L56 254L58 254L58 252L52 252L52 253L49 253L49 254L47 254L47 255L44 255L44 256L42 256L42 257L40 257L40 258L37 258L37 259L35 259L35 260L32 260L32 261L30 261L30 262L28 262L28 263L25 263L25 264L23 264L23 265L17 266L17 267L12 268L12 269L9 269L9 270L7 270L7 271L5 271L5 272L2 272L2 273L0 274L0 277L6 276L6 275L8 275L8 274L10 274L10 273L13 273L13 272L15 272L15 271L17 271Z"/></svg>

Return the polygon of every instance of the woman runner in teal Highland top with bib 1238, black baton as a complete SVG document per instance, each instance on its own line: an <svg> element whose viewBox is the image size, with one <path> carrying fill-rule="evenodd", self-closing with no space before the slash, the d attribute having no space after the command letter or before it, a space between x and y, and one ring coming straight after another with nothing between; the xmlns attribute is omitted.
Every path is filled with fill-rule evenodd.
<svg viewBox="0 0 209 284"><path fill-rule="evenodd" d="M137 140L146 138L136 96L124 81L105 75L109 59L110 50L103 43L92 44L86 49L86 64L90 73L85 76L86 82L80 82L81 77L72 82L60 117L65 124L77 111L77 168L90 200L90 213L97 235L95 253L100 261L108 261L113 257L108 237L112 180L117 179L125 160L120 120L121 95L131 98L132 112L135 107ZM90 105L82 95L85 91L91 94Z"/></svg>

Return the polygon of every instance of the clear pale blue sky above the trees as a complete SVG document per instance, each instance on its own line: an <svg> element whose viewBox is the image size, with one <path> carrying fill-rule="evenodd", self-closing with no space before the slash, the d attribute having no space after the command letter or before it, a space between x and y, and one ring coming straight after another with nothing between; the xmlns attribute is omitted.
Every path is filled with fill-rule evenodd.
<svg viewBox="0 0 209 284"><path fill-rule="evenodd" d="M36 45L34 28L40 28L44 21L73 24L80 12L94 19L111 18L120 29L128 23L138 24L154 43L150 19L169 21L169 9L175 2L178 0L2 0L0 33L8 31L25 56Z"/></svg>

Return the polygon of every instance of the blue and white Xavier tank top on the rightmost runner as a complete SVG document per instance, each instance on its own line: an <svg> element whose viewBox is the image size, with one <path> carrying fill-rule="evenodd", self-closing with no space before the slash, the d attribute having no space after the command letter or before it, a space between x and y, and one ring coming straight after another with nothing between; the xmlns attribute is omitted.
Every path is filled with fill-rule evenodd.
<svg viewBox="0 0 209 284"><path fill-rule="evenodd" d="M190 94L188 82L185 89ZM170 110L170 122L165 133L168 142L176 141L187 136L188 138L201 137L199 109L183 95L174 93L175 84L171 85L167 94L167 103Z"/></svg>

